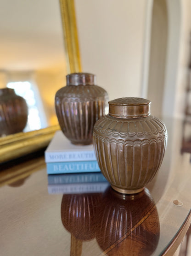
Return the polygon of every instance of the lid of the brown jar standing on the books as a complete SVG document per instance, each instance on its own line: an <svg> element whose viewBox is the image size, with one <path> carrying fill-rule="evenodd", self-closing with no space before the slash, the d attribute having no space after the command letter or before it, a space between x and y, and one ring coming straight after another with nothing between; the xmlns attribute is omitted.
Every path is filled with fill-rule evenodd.
<svg viewBox="0 0 191 256"><path fill-rule="evenodd" d="M72 73L66 76L68 85L95 85L96 75L90 73Z"/></svg>

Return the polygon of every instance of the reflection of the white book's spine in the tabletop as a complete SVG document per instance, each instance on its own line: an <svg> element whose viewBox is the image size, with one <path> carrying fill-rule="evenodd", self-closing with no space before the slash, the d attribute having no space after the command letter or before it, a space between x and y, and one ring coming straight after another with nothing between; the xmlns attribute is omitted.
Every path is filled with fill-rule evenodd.
<svg viewBox="0 0 191 256"><path fill-rule="evenodd" d="M108 182L101 183L84 183L84 184L64 184L48 185L49 194L78 194L103 192L109 186Z"/></svg>

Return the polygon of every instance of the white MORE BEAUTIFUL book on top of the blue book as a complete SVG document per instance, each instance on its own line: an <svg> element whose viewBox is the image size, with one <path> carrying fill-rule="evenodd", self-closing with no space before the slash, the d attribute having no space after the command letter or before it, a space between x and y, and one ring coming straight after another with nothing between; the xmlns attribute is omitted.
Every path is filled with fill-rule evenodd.
<svg viewBox="0 0 191 256"><path fill-rule="evenodd" d="M45 150L45 162L96 161L93 144L74 145L62 131L56 131Z"/></svg>

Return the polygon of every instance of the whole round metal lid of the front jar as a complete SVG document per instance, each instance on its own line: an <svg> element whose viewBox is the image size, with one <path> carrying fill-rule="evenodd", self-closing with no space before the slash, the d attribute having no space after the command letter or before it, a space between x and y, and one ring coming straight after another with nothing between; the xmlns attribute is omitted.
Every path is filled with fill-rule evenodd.
<svg viewBox="0 0 191 256"><path fill-rule="evenodd" d="M151 101L127 97L109 101L109 114L118 118L146 117L150 115Z"/></svg>

